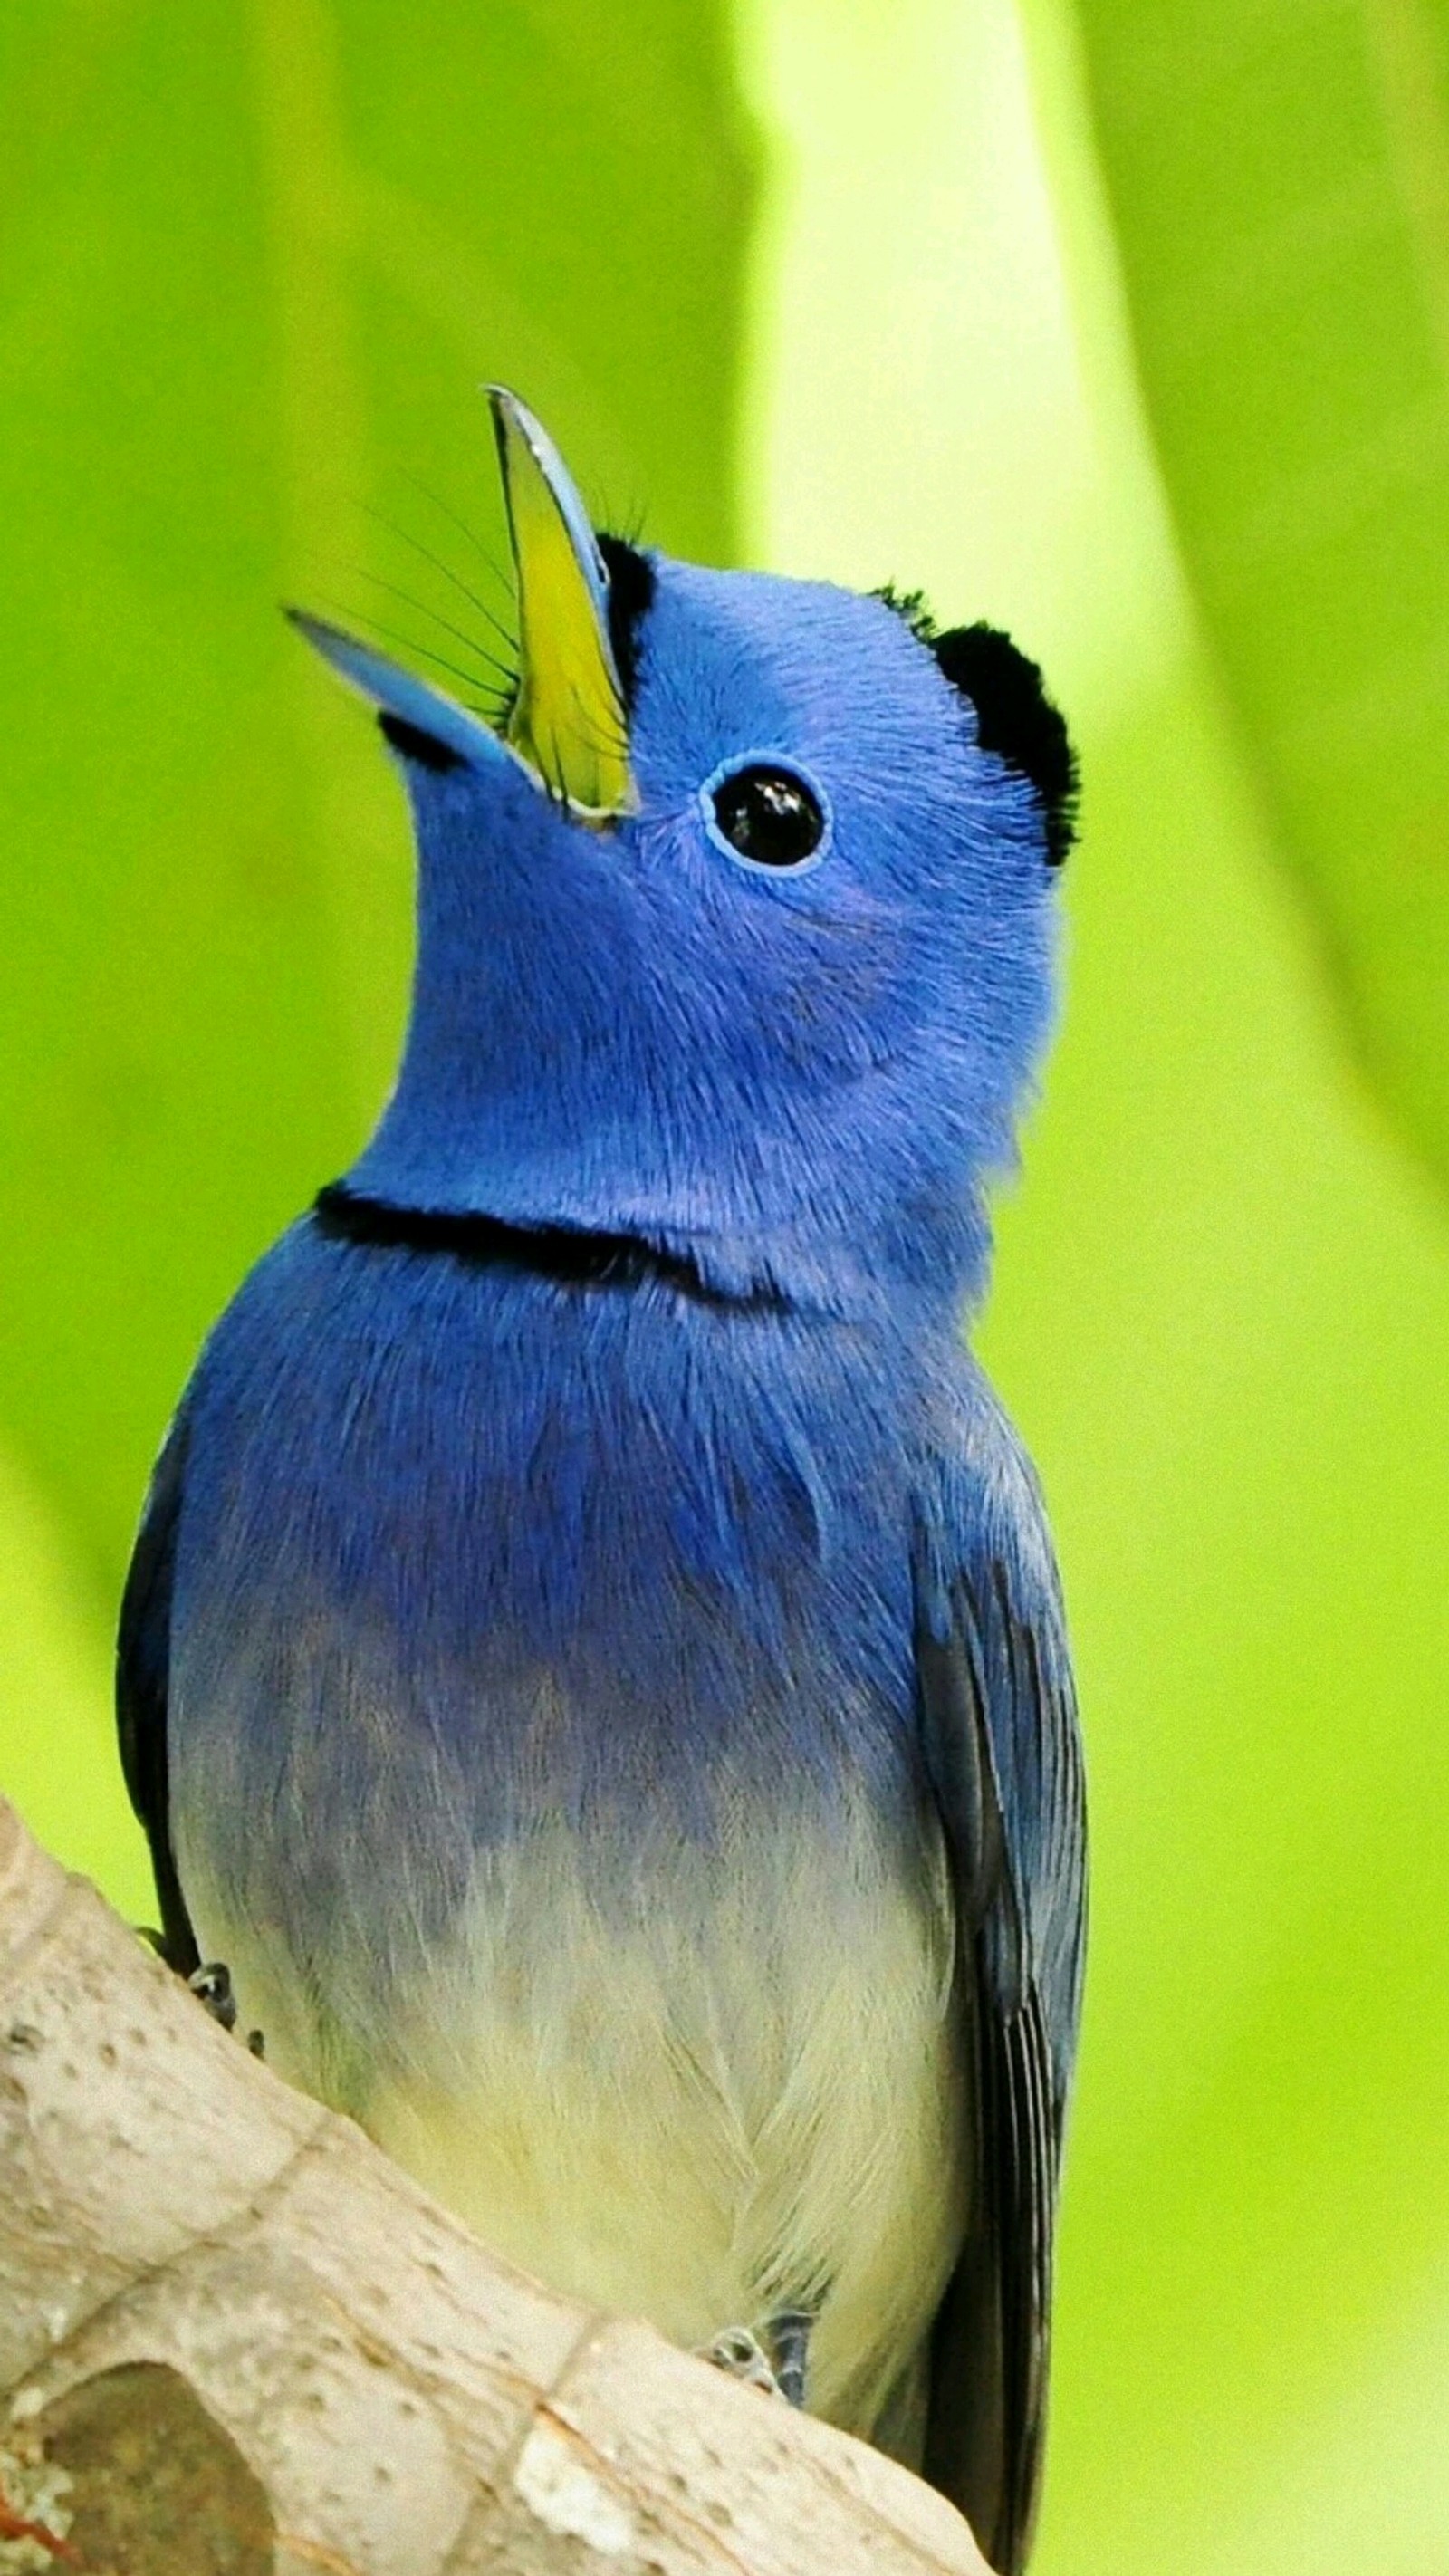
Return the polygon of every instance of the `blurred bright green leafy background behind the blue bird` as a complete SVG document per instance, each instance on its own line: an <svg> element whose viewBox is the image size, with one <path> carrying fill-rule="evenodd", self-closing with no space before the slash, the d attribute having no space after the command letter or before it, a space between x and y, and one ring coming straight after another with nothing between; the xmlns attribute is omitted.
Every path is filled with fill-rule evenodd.
<svg viewBox="0 0 1449 2576"><path fill-rule="evenodd" d="M1094 1785L1040 2568L1444 2571L1449 10L3 13L0 1783L136 1917L147 1466L407 984L275 600L468 659L486 376L602 515L924 585L1076 721L983 1332Z"/></svg>

